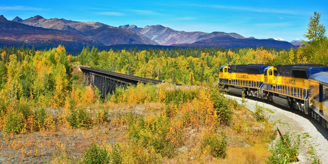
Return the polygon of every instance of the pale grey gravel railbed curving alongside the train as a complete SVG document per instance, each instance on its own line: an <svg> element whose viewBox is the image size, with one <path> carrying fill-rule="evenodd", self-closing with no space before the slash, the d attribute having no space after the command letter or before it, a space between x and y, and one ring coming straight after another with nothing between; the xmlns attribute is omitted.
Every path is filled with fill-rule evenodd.
<svg viewBox="0 0 328 164"><path fill-rule="evenodd" d="M252 99L245 99L246 102L242 102L241 97L226 96L235 99L238 104L244 105L252 112L255 112L256 105L262 106L264 116L268 122L275 123L275 130L278 126L283 134L289 132L292 136L298 135L300 139L298 158L300 161L296 163L311 163L314 159L319 159L320 163L328 163L328 129L313 120L296 114L296 111L286 111L274 105ZM277 133L274 143L278 139L279 133Z"/></svg>

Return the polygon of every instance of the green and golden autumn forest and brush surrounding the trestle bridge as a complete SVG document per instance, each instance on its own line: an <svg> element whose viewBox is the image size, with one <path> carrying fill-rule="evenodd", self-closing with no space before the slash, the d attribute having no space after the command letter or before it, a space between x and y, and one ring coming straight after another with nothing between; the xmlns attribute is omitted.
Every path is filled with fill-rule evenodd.
<svg viewBox="0 0 328 164"><path fill-rule="evenodd" d="M309 25L311 21L318 22L319 18L320 15L315 13ZM96 47L85 47L78 56L72 56L63 45L46 50L2 47L0 128L8 142L2 143L0 148L6 147L3 151L20 150L18 160L39 157L40 162L51 163L99 162L93 161L94 156L100 156L99 160L105 163L183 163L191 162L190 157L195 163L225 162L225 158L230 159L229 153L237 151L237 146L227 140L233 140L232 136L237 135L243 143L251 145L247 149L252 151L242 148L242 151L252 153L246 153L254 158L249 160L264 162L261 155L274 154L265 147L274 135L271 125L257 121L242 106L223 96L224 91L215 86L218 71L226 64L328 65L324 27L309 26L305 36L311 42L304 42L296 49L146 50L135 47L99 51ZM82 85L83 75L76 67L79 65L182 86L140 84L126 90L119 88L102 99L96 88ZM142 112L136 108L142 108ZM265 128L257 130L255 138L251 137L254 131L245 130L248 129L245 127L262 125ZM59 140L32 149L35 143L31 143L32 146L22 144L24 141L20 137L23 134L41 137L41 134L63 133L71 136L80 132L78 130L86 133L94 130L97 136L85 135L83 142L73 141L80 144L76 150ZM108 130L119 131L115 134L117 140L103 135ZM44 155L53 146L56 150ZM263 151L257 152L259 150Z"/></svg>

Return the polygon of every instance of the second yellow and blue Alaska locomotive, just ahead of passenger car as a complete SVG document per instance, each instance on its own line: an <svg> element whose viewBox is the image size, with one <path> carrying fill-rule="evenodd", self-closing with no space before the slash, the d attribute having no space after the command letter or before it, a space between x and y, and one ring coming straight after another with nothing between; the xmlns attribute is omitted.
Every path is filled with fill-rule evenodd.
<svg viewBox="0 0 328 164"><path fill-rule="evenodd" d="M263 99L309 114L309 77L327 69L316 64L267 67L264 72Z"/></svg>

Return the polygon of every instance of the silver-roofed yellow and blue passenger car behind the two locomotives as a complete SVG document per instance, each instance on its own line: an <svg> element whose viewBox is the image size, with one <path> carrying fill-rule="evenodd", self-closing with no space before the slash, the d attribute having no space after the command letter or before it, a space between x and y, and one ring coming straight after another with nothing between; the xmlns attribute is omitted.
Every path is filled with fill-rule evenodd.
<svg viewBox="0 0 328 164"><path fill-rule="evenodd" d="M328 128L328 72L319 72L309 78L311 116Z"/></svg>

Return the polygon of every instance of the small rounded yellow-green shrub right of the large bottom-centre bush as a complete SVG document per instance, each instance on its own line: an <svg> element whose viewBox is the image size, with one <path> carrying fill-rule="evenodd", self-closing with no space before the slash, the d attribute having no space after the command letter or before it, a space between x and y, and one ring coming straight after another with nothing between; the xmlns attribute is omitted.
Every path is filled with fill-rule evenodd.
<svg viewBox="0 0 328 164"><path fill-rule="evenodd" d="M222 131L221 135L213 131L205 133L201 148L202 150L208 149L209 153L216 158L225 158L227 155L227 136L225 132Z"/></svg>

